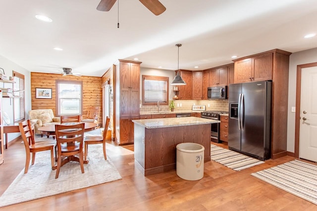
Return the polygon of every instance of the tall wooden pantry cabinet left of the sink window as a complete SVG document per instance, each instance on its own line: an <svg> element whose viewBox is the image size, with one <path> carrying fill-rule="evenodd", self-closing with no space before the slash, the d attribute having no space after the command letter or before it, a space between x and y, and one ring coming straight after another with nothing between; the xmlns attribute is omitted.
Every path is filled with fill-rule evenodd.
<svg viewBox="0 0 317 211"><path fill-rule="evenodd" d="M140 119L140 64L119 60L115 67L115 140L119 145L132 144L132 120Z"/></svg>

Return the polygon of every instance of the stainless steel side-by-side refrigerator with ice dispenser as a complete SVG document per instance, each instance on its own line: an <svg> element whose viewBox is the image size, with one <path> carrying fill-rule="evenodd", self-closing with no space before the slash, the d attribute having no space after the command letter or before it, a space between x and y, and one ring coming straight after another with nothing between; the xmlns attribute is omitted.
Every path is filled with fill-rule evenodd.
<svg viewBox="0 0 317 211"><path fill-rule="evenodd" d="M229 149L270 158L272 82L229 85Z"/></svg>

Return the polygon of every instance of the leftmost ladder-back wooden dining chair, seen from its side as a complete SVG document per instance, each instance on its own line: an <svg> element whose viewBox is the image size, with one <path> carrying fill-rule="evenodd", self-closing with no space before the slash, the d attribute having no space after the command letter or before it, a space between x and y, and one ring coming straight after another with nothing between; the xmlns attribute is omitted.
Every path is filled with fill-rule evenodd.
<svg viewBox="0 0 317 211"><path fill-rule="evenodd" d="M19 123L19 129L21 132L21 137L25 146L26 160L25 160L25 169L24 173L27 173L30 165L30 153L32 153L32 165L35 161L35 153L41 151L51 151L51 164L52 169L56 169L54 166L54 152L53 149L56 146L56 141L43 141L35 142L33 130L31 127L30 120Z"/></svg>

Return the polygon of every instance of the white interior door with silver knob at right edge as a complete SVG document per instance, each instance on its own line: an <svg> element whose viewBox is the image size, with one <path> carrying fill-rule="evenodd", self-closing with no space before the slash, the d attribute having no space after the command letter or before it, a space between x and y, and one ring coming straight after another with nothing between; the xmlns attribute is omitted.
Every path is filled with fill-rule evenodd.
<svg viewBox="0 0 317 211"><path fill-rule="evenodd" d="M302 69L299 157L317 162L317 67Z"/></svg>

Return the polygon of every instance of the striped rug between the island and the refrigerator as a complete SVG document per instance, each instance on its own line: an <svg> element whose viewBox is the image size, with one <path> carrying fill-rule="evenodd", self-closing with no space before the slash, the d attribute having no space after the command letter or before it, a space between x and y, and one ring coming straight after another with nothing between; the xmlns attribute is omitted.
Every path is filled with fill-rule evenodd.
<svg viewBox="0 0 317 211"><path fill-rule="evenodd" d="M258 159L213 144L211 144L211 160L236 171L248 169L264 163Z"/></svg>

